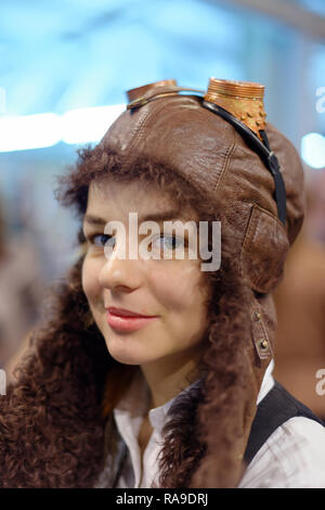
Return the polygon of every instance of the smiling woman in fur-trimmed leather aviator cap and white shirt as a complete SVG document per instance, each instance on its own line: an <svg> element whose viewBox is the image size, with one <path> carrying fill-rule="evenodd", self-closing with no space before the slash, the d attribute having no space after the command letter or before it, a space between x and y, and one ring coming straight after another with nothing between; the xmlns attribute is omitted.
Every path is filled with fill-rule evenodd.
<svg viewBox="0 0 325 510"><path fill-rule="evenodd" d="M303 219L299 157L265 126L261 87L181 90L167 80L130 91L61 178L82 253L3 399L2 486L325 486L324 429L271 375L271 292ZM192 241L206 222L209 235L196 258L186 234L165 233L138 256L131 213L141 225L190 221ZM209 270L216 221L221 265Z"/></svg>

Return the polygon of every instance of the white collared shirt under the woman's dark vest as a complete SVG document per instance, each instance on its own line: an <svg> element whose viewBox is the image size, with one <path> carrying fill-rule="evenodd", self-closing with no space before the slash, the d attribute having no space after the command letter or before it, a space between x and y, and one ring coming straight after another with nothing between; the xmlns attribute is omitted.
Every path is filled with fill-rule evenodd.
<svg viewBox="0 0 325 510"><path fill-rule="evenodd" d="M265 371L257 404L274 385L272 360ZM181 393L199 382L195 381ZM174 397L177 398L177 397ZM148 386L139 371L129 391L114 409L117 429L128 454L117 488L148 488L158 483L157 456L162 446L161 430L174 398L150 410L153 433L141 466L138 436L148 408ZM238 487L323 487L325 488L325 429L308 418L295 417L269 437L248 466ZM98 486L101 486L98 485Z"/></svg>

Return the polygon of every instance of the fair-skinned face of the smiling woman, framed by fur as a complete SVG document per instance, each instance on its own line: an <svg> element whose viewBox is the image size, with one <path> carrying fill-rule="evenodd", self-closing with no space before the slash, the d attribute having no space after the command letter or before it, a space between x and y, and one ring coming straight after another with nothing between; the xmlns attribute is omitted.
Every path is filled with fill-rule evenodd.
<svg viewBox="0 0 325 510"><path fill-rule="evenodd" d="M129 257L129 213L138 213L140 226L145 216L167 213L168 219L197 220L195 213L182 212L169 217L176 204L156 188L143 183L120 183L112 177L92 183L83 220L88 248L82 267L82 288L98 328L102 332L109 354L126 365L145 366L166 358L172 364L184 364L196 358L207 327L205 299L207 290L200 285L200 259L162 258L164 244L173 252L170 234L159 239L151 231L139 234L138 244L147 237L153 239L153 252L161 252L160 259ZM185 215L187 213L187 215ZM102 225L92 225L87 218L102 218ZM122 235L116 232L110 240L112 253L104 252L109 235L105 225L119 220L126 229L126 258L121 254ZM159 221L160 235L164 222ZM94 237L93 237L94 235ZM174 253L174 252L173 252ZM145 316L155 316L140 329L121 331L107 321L107 308L125 308Z"/></svg>

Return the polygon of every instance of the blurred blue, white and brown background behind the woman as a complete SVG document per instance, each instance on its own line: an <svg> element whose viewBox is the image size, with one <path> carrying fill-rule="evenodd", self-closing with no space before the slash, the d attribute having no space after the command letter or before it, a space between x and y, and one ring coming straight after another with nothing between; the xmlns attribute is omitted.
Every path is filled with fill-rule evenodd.
<svg viewBox="0 0 325 510"><path fill-rule="evenodd" d="M325 417L324 0L1 0L0 367L76 257L55 176L102 138L126 90L166 78L206 89L211 76L263 84L268 119L301 154L308 217L276 293L275 374Z"/></svg>

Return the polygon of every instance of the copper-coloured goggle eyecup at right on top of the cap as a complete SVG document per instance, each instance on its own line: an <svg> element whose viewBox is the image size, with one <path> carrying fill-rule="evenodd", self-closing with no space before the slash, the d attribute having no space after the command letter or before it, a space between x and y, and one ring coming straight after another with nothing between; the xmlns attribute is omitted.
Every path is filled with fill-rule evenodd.
<svg viewBox="0 0 325 510"><path fill-rule="evenodd" d="M264 86L252 81L210 78L205 101L218 104L246 124L260 140L265 129Z"/></svg>

